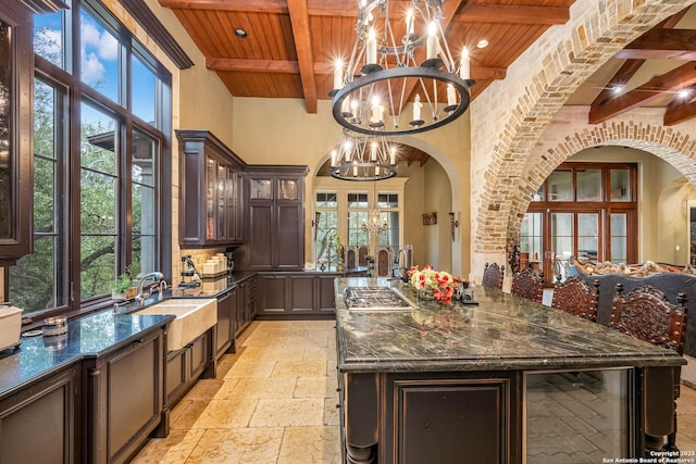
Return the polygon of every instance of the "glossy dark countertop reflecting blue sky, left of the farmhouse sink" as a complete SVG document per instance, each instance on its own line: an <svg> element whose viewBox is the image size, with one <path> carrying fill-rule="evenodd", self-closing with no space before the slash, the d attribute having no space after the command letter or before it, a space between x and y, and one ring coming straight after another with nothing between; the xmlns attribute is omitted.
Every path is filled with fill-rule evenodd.
<svg viewBox="0 0 696 464"><path fill-rule="evenodd" d="M108 310L69 322L64 335L23 336L18 349L0 352L0 398L85 358L123 347L173 318Z"/></svg>

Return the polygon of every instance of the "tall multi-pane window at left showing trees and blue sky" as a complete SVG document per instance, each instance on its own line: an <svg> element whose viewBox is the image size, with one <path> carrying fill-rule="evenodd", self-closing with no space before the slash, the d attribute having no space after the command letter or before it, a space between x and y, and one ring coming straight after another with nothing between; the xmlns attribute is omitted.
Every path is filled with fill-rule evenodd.
<svg viewBox="0 0 696 464"><path fill-rule="evenodd" d="M34 253L9 273L25 315L169 271L171 75L99 1L70 3L35 15Z"/></svg>

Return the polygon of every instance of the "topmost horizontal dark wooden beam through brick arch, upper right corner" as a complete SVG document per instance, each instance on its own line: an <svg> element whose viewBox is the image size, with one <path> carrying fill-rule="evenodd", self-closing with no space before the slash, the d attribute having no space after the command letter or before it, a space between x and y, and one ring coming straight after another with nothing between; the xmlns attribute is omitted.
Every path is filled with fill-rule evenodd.
<svg viewBox="0 0 696 464"><path fill-rule="evenodd" d="M652 29L616 55L621 59L696 61L696 29Z"/></svg>

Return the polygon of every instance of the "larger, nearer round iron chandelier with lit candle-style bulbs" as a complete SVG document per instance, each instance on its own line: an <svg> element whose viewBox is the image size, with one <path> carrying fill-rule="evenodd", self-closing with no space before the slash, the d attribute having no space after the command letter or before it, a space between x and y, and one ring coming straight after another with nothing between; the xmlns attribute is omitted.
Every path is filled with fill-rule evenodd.
<svg viewBox="0 0 696 464"><path fill-rule="evenodd" d="M443 2L410 0L408 10L391 12L389 0L360 1L352 53L345 70L336 63L330 92L341 126L361 134L414 134L467 111L474 84L469 53L463 48L459 60L452 57L442 26ZM412 110L405 111L411 96Z"/></svg>

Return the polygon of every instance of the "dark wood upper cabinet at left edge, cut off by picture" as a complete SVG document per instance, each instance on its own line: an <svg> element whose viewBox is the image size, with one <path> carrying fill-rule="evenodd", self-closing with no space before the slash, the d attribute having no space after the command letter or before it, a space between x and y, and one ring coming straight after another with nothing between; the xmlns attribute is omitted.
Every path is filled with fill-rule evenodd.
<svg viewBox="0 0 696 464"><path fill-rule="evenodd" d="M32 252L32 15L64 7L28 3L0 0L0 266Z"/></svg>

